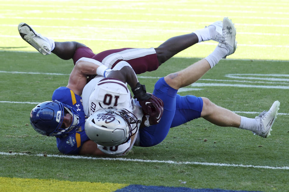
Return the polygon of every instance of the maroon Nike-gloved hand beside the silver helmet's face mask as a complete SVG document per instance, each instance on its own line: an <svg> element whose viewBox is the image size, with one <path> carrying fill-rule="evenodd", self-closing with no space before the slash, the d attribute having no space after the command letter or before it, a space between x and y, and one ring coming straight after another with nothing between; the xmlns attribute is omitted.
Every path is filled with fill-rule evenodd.
<svg viewBox="0 0 289 192"><path fill-rule="evenodd" d="M139 101L144 112L144 125L149 127L160 122L163 115L163 101L154 95L148 100ZM144 106L144 107L143 107Z"/></svg>

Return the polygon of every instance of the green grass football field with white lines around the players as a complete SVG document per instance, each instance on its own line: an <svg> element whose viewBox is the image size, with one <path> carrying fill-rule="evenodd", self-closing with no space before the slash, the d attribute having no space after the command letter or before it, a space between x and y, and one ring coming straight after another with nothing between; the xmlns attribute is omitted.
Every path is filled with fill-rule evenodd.
<svg viewBox="0 0 289 192"><path fill-rule="evenodd" d="M90 182L120 184L117 188L142 184L289 191L288 1L0 3L0 191L16 190L13 182L3 180L6 177L59 181L59 190L66 191L95 189L88 187ZM21 39L17 31L20 22L55 41L79 41L97 53L123 47L157 47L170 37L201 29L224 16L229 16L237 28L237 51L179 94L207 97L251 118L278 100L280 114L269 138L197 119L171 129L157 146L134 147L126 159L110 160L61 156L55 138L45 140L31 127L31 109L36 103L51 100L54 89L67 85L73 64L56 55L35 52ZM156 77L187 67L206 57L215 46L213 41L196 44L157 71L141 74L139 80L151 92ZM53 190L40 185L27 181L19 190Z"/></svg>

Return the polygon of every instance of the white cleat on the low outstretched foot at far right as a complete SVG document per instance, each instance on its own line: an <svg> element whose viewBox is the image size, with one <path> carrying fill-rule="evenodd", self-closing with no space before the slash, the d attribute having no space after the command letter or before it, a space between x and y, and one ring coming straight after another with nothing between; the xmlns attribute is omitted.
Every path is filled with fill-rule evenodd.
<svg viewBox="0 0 289 192"><path fill-rule="evenodd" d="M270 131L272 131L272 125L277 117L279 106L280 102L275 101L268 112L263 111L258 117L256 117L258 122L258 131L254 134L265 138L270 136Z"/></svg>

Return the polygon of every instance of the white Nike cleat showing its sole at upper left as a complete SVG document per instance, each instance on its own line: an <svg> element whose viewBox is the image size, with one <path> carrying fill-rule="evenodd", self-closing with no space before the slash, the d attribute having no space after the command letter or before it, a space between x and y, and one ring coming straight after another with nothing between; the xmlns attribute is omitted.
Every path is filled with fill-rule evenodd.
<svg viewBox="0 0 289 192"><path fill-rule="evenodd" d="M22 39L32 45L37 51L43 55L48 55L51 53L51 45L49 40L42 37L41 34L35 32L29 25L26 23L20 23L18 25L18 31Z"/></svg>

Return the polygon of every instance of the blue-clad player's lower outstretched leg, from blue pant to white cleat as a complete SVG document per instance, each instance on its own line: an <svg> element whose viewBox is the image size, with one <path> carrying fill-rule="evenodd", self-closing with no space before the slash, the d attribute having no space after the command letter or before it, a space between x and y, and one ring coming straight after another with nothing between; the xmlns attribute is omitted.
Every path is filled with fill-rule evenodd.
<svg viewBox="0 0 289 192"><path fill-rule="evenodd" d="M268 112L263 111L259 116L252 119L239 116L230 110L217 106L208 98L197 98L193 95L177 95L176 112L171 128L203 117L218 126L245 129L261 137L268 137L278 114L279 105L279 101L275 101Z"/></svg>

